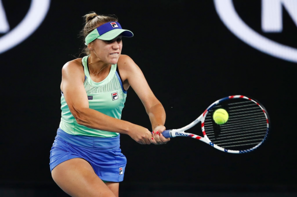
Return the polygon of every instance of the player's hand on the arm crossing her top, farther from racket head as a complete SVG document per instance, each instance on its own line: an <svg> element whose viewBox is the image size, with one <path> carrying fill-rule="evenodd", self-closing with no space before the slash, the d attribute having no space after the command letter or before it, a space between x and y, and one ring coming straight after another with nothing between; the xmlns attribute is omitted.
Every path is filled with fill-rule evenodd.
<svg viewBox="0 0 297 197"><path fill-rule="evenodd" d="M139 125L135 125L128 134L139 144L151 144L153 140L151 132Z"/></svg>

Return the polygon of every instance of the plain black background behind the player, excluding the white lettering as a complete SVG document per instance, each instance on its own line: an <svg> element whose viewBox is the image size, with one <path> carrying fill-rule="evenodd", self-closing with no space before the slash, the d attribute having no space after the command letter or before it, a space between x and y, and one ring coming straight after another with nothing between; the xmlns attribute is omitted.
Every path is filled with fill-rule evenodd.
<svg viewBox="0 0 297 197"><path fill-rule="evenodd" d="M0 17L0 27L3 21L10 26L0 32L0 43L18 27L34 1L50 0L0 0L0 16L5 16ZM233 0L233 5L255 32L297 48L297 26L284 7L283 31L264 33L261 0ZM142 69L164 105L167 129L189 124L212 102L229 95L259 100L271 118L272 129L263 146L240 155L189 138L144 146L121 135L128 164L120 196L297 196L297 62L242 42L223 24L212 0L51 0L37 30L0 52L1 197L67 196L52 180L49 151L60 121L61 68L80 55L82 16L91 11L115 14L122 27L134 33L123 38L122 54ZM19 30L17 35L21 34ZM125 105L122 119L151 128L131 88ZM201 130L197 126L191 132Z"/></svg>

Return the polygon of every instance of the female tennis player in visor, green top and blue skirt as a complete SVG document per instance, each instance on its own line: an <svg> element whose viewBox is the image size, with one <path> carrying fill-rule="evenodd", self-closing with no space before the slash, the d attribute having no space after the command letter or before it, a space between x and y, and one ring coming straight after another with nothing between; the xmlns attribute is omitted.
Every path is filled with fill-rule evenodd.
<svg viewBox="0 0 297 197"><path fill-rule="evenodd" d="M139 144L166 144L165 110L154 96L140 68L121 55L122 29L113 16L84 16L82 31L87 56L62 68L62 117L51 149L50 168L57 185L73 197L118 197L126 157L121 153L120 134ZM121 120L132 87L148 113L151 132Z"/></svg>

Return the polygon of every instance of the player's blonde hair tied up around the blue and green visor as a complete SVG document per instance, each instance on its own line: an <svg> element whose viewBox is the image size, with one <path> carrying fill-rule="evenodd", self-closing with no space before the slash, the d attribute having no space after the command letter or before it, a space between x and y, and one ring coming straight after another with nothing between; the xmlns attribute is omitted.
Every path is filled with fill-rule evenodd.
<svg viewBox="0 0 297 197"><path fill-rule="evenodd" d="M83 43L85 43L85 38L89 33L91 33L97 27L111 21L117 22L118 19L115 15L97 15L95 12L91 12L83 16L85 19L84 28L80 32L80 36L83 37ZM90 50L88 46L85 46L82 53L90 55Z"/></svg>

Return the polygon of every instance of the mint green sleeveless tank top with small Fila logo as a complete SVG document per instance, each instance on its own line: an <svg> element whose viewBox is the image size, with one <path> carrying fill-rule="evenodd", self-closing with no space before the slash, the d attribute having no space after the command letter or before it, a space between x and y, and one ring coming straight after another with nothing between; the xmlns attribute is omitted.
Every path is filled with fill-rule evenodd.
<svg viewBox="0 0 297 197"><path fill-rule="evenodd" d="M88 95L90 109L121 119L127 91L124 90L120 76L116 71L117 65L111 65L110 73L102 82L93 82L88 69L88 57L89 56L85 56L82 58L82 65L84 66L84 86ZM77 124L69 110L63 93L61 96L61 110L62 117L60 128L68 134L93 137L116 137L119 135L117 132L90 129Z"/></svg>

